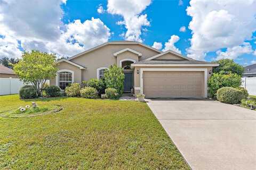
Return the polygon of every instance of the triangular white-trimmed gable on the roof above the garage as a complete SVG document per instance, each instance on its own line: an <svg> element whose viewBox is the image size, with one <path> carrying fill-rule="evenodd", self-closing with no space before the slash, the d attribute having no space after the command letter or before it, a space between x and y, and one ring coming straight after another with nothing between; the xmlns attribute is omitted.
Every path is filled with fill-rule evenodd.
<svg viewBox="0 0 256 170"><path fill-rule="evenodd" d="M167 55L171 56L167 56ZM167 50L164 53L155 55L153 57L147 58L146 60L157 60L157 58L159 58L159 60L173 60L173 61L178 61L178 60L193 60L189 57L183 56L177 52L174 52L173 50Z"/></svg>

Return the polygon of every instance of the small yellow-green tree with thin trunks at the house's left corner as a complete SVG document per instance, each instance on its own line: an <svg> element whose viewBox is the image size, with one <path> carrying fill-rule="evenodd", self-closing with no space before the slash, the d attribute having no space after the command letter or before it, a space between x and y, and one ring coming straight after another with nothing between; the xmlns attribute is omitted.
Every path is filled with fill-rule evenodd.
<svg viewBox="0 0 256 170"><path fill-rule="evenodd" d="M53 54L38 50L24 52L19 63L14 65L14 72L23 82L33 84L37 96L40 97L46 80L54 78L58 70L55 67L55 58Z"/></svg>

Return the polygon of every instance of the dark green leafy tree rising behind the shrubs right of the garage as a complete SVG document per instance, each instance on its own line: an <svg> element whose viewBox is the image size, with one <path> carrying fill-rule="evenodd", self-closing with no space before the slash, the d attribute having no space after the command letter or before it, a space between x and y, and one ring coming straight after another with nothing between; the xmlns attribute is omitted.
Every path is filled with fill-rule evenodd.
<svg viewBox="0 0 256 170"><path fill-rule="evenodd" d="M244 67L240 64L235 63L233 60L222 59L213 63L218 63L220 66L213 68L213 73L229 74L236 73L242 76Z"/></svg>

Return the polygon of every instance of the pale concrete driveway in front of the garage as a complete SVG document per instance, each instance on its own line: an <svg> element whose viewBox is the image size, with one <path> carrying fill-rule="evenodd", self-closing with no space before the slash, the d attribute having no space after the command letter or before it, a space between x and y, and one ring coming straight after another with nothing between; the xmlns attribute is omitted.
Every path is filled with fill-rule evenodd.
<svg viewBox="0 0 256 170"><path fill-rule="evenodd" d="M192 169L256 169L256 111L210 100L148 100Z"/></svg>

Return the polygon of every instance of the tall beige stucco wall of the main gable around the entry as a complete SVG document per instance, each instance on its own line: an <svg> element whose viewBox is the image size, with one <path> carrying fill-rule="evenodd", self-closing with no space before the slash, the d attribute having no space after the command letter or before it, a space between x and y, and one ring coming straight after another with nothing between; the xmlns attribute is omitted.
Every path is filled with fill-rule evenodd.
<svg viewBox="0 0 256 170"><path fill-rule="evenodd" d="M96 79L97 69L100 67L109 67L110 65L117 64L117 57L114 56L114 53L119 52L125 48L130 48L141 53L142 56L139 57L140 61L159 54L159 52L156 52L155 50L137 44L109 44L82 56L71 58L70 61L86 67L86 70L82 70L82 81L87 81L92 78ZM129 53L129 56L131 56L130 54L131 53ZM122 55L125 56L125 53L122 53Z"/></svg>

